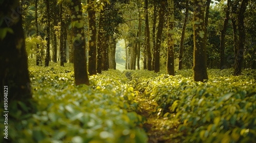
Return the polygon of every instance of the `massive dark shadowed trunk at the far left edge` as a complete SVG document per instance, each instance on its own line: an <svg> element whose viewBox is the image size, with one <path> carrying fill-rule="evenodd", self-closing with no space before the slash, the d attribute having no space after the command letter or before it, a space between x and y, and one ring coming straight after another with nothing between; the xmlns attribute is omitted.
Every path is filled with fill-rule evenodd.
<svg viewBox="0 0 256 143"><path fill-rule="evenodd" d="M2 1L0 5L1 19L11 18L13 12L21 14L19 11L15 11L18 8L19 1ZM10 10L14 11L10 12ZM8 98L8 103L12 100L26 101L25 104L29 107L27 101L32 99L32 94L22 16L17 16L12 20L0 24L1 29L8 31L4 37L0 38L0 101L4 103L3 100L6 100L4 98ZM6 93L8 93L8 97Z"/></svg>

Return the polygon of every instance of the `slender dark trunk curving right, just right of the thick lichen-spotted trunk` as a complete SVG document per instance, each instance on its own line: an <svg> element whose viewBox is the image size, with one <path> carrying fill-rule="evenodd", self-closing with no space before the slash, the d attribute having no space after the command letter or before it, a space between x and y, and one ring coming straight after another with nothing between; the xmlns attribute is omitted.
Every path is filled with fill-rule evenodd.
<svg viewBox="0 0 256 143"><path fill-rule="evenodd" d="M220 42L220 69L224 69L225 65L225 36L227 31L227 25L229 20L230 0L227 0L226 17L224 19L223 29L221 30L221 42Z"/></svg>

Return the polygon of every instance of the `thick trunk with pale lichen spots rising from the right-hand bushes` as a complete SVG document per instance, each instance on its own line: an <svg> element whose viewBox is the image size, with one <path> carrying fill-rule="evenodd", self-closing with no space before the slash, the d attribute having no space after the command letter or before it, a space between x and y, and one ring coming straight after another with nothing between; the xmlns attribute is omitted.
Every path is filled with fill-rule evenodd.
<svg viewBox="0 0 256 143"><path fill-rule="evenodd" d="M203 0L194 1L194 81L208 80L204 33Z"/></svg>

